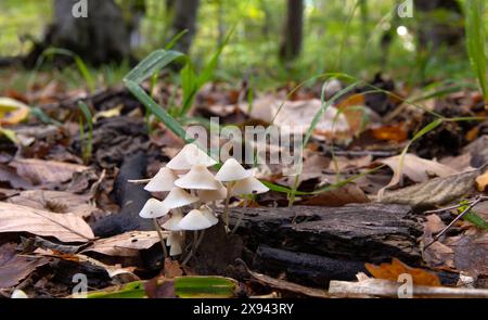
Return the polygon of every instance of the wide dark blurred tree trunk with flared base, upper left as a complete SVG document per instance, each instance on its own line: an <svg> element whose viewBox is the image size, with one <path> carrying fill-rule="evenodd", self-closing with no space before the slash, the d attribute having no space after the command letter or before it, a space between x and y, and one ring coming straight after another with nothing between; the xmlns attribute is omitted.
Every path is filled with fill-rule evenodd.
<svg viewBox="0 0 488 320"><path fill-rule="evenodd" d="M44 36L27 57L37 60L46 48L56 47L75 52L94 65L120 62L129 54L130 36L123 13L113 0L87 0L87 16L75 17L78 0L55 0L54 20Z"/></svg>

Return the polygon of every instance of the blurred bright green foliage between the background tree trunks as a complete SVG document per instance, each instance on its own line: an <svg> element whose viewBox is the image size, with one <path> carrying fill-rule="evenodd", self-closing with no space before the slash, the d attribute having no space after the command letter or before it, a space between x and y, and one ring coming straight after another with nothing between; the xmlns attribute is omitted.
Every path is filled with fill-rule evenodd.
<svg viewBox="0 0 488 320"><path fill-rule="evenodd" d="M146 13L140 28L142 43L134 50L140 59L163 48L170 37L165 1L145 1ZM415 10L414 18L398 18L394 23L394 5L398 1L359 0L359 8L354 10L357 1L305 0L304 50L293 65L284 67L279 63L278 51L286 1L202 0L197 34L191 49L192 61L196 69L202 68L224 34L235 25L217 71L219 78L229 81L246 75L260 88L267 88L275 87L277 81L299 81L320 73L342 72L368 78L378 71L407 82L472 77L463 50L440 50L427 56L416 53L413 31ZM124 0L118 2L123 3ZM25 53L30 48L29 41L21 41L20 36L41 38L43 28L52 17L52 0L2 0L0 10L0 56ZM484 14L486 16L487 13ZM487 23L485 18L486 27ZM389 59L385 61L382 37L388 28L398 27L403 27L402 30L407 33L393 30ZM128 68L124 66L123 72L116 68L112 66L105 69L103 77L120 80L120 75ZM79 77L76 72L73 75L68 73L67 77L75 86ZM22 82L22 79L17 81Z"/></svg>

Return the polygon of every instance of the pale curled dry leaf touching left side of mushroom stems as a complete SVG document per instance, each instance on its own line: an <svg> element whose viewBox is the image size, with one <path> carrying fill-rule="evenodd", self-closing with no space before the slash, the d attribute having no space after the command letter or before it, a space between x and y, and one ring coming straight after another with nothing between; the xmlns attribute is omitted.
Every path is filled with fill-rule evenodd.
<svg viewBox="0 0 488 320"><path fill-rule="evenodd" d="M164 232L167 235L167 232ZM82 251L97 252L107 256L130 257L139 255L139 251L150 248L159 242L156 231L130 231L106 239L97 240L92 246Z"/></svg>

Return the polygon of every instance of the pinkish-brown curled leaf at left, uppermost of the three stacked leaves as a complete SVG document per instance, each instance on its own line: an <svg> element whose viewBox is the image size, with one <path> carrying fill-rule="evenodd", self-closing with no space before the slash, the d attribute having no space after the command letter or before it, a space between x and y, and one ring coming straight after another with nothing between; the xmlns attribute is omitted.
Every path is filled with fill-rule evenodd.
<svg viewBox="0 0 488 320"><path fill-rule="evenodd" d="M37 158L14 159L10 165L17 169L21 177L35 184L65 182L72 179L73 174L88 169L82 165Z"/></svg>

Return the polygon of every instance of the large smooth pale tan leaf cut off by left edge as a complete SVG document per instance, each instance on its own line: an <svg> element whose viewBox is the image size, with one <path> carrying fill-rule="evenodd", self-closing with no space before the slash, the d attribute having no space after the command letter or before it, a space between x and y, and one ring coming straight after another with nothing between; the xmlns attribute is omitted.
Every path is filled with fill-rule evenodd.
<svg viewBox="0 0 488 320"><path fill-rule="evenodd" d="M63 242L87 242L94 238L90 226L73 214L54 214L0 202L0 233L29 232Z"/></svg>

